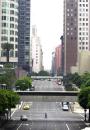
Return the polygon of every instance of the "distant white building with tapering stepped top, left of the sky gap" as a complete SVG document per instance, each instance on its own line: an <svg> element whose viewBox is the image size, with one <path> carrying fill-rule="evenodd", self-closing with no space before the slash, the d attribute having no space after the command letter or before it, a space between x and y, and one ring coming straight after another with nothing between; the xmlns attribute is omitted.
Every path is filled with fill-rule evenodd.
<svg viewBox="0 0 90 130"><path fill-rule="evenodd" d="M32 57L32 71L38 73L43 70L43 52L40 43L40 37L37 35L37 28L32 26L31 37L31 57Z"/></svg>

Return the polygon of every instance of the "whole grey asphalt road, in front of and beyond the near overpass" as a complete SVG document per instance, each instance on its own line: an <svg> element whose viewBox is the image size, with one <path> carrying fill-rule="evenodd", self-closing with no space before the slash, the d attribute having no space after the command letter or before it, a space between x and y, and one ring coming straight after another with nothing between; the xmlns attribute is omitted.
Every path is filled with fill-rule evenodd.
<svg viewBox="0 0 90 130"><path fill-rule="evenodd" d="M36 80L33 85L35 91L64 90L64 87L54 80ZM25 102L13 113L12 121L0 130L81 130L85 127L84 118L77 113L72 113L71 109L63 111L60 102L28 102L29 110L23 110L24 104ZM28 121L20 121L21 115L26 115Z"/></svg>

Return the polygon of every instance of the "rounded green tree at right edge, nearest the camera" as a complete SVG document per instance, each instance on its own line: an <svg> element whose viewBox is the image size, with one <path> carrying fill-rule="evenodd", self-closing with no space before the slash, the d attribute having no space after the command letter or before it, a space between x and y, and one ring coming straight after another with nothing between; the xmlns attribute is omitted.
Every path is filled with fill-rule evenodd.
<svg viewBox="0 0 90 130"><path fill-rule="evenodd" d="M89 109L89 118L90 122L90 87L86 87L80 90L78 95L79 104L84 108L84 110ZM85 111L86 112L86 111ZM86 116L86 113L85 113ZM86 117L85 117L86 120Z"/></svg>

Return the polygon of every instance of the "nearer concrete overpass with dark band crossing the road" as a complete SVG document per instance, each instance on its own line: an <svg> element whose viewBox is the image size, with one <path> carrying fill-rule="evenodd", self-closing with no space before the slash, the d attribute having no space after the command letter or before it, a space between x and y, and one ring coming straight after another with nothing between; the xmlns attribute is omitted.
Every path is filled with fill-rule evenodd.
<svg viewBox="0 0 90 130"><path fill-rule="evenodd" d="M16 91L23 102L76 102L78 91Z"/></svg>

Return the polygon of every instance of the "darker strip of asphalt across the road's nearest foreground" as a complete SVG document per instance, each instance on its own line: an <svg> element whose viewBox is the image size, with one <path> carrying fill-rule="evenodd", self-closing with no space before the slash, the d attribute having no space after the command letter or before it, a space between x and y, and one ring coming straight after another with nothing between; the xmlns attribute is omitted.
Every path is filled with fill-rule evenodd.
<svg viewBox="0 0 90 130"><path fill-rule="evenodd" d="M0 130L81 130L84 127L80 121L10 121Z"/></svg>

